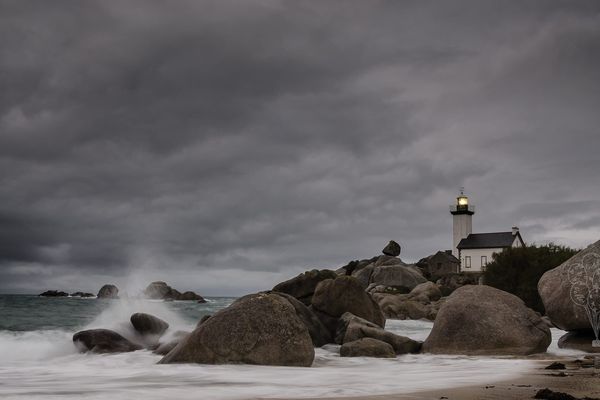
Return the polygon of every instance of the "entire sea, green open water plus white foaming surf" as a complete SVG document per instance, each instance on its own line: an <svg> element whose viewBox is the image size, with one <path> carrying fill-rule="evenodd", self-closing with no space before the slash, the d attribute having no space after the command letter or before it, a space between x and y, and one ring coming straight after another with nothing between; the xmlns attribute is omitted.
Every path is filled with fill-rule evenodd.
<svg viewBox="0 0 600 400"><path fill-rule="evenodd" d="M536 358L430 354L394 359L342 358L339 346L316 349L310 368L256 365L157 364L148 350L82 354L72 342L82 329L108 328L125 337L135 312L170 324L166 339L191 331L205 315L235 299L207 303L0 295L0 399L256 399L327 398L411 393L491 384L534 368ZM424 340L429 321L388 320L386 329ZM564 332L553 330L548 357L577 355L558 349Z"/></svg>

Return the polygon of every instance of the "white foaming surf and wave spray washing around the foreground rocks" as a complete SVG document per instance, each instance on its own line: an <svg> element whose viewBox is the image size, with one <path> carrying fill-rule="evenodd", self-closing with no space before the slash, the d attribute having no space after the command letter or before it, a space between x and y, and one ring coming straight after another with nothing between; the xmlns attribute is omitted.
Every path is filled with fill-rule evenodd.
<svg viewBox="0 0 600 400"><path fill-rule="evenodd" d="M127 320L132 309L169 322L177 320L161 303L115 302L90 327L110 327L115 318ZM179 323L189 328L189 323ZM423 340L431 326L425 321L388 321L387 329ZM0 332L0 398L227 400L360 396L492 383L510 379L533 365L530 360L427 354L395 359L341 358L335 345L317 349L312 368L157 365L160 356L145 350L78 354L71 344L71 334Z"/></svg>

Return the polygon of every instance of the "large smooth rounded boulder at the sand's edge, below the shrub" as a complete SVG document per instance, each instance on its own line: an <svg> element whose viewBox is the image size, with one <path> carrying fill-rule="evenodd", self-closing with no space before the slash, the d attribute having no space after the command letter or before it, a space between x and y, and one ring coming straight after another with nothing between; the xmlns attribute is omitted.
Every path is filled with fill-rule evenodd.
<svg viewBox="0 0 600 400"><path fill-rule="evenodd" d="M423 351L527 355L546 351L550 329L517 296L485 285L457 289L441 307Z"/></svg>

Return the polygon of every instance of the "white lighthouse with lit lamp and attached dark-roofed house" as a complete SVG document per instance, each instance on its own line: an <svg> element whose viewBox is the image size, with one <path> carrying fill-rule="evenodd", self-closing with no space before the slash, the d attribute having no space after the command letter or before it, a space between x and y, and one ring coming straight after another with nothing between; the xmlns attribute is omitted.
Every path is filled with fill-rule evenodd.
<svg viewBox="0 0 600 400"><path fill-rule="evenodd" d="M461 190L456 204L450 206L453 219L452 254L460 260L461 272L482 272L494 253L509 247L525 246L516 226L510 232L472 233L475 207Z"/></svg>

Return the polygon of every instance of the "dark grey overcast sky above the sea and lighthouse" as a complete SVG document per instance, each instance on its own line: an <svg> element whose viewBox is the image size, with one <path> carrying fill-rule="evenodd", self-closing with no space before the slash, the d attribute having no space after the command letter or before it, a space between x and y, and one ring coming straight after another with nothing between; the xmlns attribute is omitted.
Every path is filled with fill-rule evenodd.
<svg viewBox="0 0 600 400"><path fill-rule="evenodd" d="M0 292L600 239L600 2L0 0Z"/></svg>

